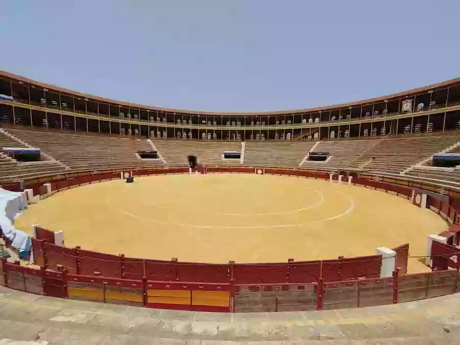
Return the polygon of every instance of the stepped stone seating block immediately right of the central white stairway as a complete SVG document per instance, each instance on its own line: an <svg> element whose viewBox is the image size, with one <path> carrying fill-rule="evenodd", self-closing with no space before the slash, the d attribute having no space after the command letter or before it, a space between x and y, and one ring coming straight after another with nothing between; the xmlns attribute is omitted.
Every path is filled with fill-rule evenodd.
<svg viewBox="0 0 460 345"><path fill-rule="evenodd" d="M315 143L269 143L247 142L244 165L256 167L298 168L305 155Z"/></svg>

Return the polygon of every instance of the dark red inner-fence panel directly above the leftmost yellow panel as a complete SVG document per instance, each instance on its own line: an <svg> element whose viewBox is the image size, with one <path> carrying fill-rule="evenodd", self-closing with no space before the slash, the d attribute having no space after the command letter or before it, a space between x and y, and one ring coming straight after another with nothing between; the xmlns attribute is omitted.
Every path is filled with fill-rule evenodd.
<svg viewBox="0 0 460 345"><path fill-rule="evenodd" d="M123 278L123 257L77 248L78 273Z"/></svg>

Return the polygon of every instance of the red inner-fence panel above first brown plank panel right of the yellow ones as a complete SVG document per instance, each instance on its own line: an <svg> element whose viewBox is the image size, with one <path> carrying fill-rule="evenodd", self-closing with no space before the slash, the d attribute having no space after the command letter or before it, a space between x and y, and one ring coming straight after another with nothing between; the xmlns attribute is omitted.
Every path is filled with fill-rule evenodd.
<svg viewBox="0 0 460 345"><path fill-rule="evenodd" d="M234 264L235 284L270 284L288 282L288 264Z"/></svg>

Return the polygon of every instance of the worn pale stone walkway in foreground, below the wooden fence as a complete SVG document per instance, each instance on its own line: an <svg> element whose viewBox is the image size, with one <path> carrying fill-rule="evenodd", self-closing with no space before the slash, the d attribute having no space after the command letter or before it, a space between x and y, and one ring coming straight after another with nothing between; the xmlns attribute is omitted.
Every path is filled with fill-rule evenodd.
<svg viewBox="0 0 460 345"><path fill-rule="evenodd" d="M4 344L458 344L460 294L314 312L197 313L98 304L0 287Z"/></svg>

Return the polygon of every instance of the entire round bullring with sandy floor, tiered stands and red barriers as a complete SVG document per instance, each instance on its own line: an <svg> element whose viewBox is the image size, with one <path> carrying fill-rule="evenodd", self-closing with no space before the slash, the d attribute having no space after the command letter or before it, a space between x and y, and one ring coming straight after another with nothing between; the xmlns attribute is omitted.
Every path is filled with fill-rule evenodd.
<svg viewBox="0 0 460 345"><path fill-rule="evenodd" d="M2 336L457 340L459 79L243 115L0 72L0 126Z"/></svg>

